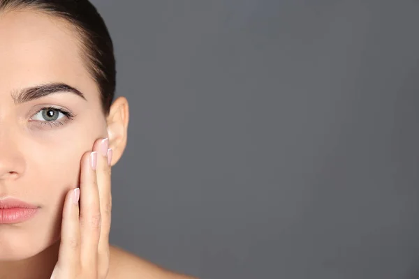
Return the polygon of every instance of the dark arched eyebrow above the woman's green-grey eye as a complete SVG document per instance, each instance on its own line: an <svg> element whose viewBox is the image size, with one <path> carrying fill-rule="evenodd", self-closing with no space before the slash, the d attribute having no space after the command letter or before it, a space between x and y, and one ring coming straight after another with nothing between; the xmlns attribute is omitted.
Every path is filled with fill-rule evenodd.
<svg viewBox="0 0 419 279"><path fill-rule="evenodd" d="M36 100L38 98L61 92L73 93L86 100L82 92L64 83L41 84L38 86L25 88L17 93L12 93L12 98L15 105L20 105L31 100Z"/></svg>

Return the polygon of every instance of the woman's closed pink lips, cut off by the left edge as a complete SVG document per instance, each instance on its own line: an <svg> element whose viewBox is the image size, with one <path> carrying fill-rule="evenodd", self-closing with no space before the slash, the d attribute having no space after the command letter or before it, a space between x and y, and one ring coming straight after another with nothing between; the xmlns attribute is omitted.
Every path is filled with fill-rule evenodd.
<svg viewBox="0 0 419 279"><path fill-rule="evenodd" d="M22 223L34 217L38 209L38 206L20 199L0 199L0 224Z"/></svg>

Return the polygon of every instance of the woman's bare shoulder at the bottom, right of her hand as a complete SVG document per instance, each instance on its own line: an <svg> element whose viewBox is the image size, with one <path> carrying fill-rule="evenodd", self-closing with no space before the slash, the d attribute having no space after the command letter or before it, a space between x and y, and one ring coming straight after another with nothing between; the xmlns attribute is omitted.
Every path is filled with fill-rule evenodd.
<svg viewBox="0 0 419 279"><path fill-rule="evenodd" d="M157 266L117 246L110 246L108 279L154 278L154 279L197 279Z"/></svg>

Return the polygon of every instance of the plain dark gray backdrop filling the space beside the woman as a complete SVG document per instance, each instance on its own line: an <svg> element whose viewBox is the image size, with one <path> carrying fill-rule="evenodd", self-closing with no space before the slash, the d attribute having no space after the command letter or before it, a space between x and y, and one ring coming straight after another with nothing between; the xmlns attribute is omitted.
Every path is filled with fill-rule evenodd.
<svg viewBox="0 0 419 279"><path fill-rule="evenodd" d="M419 278L419 1L93 2L131 105L112 243L200 278Z"/></svg>

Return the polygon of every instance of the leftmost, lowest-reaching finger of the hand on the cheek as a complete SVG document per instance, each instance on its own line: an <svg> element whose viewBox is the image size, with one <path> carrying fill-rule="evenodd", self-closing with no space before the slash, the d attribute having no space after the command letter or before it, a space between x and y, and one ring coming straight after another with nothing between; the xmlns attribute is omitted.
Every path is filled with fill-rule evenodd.
<svg viewBox="0 0 419 279"><path fill-rule="evenodd" d="M61 243L57 269L60 273L63 272L69 276L75 276L80 268L79 197L79 188L68 191L61 223Z"/></svg>

